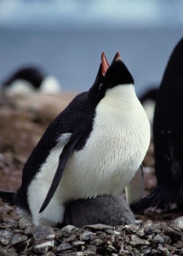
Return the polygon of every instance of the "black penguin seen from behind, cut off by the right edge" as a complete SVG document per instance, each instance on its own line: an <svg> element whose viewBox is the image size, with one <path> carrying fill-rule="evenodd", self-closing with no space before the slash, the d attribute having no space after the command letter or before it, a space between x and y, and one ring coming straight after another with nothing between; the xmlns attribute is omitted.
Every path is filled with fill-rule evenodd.
<svg viewBox="0 0 183 256"><path fill-rule="evenodd" d="M134 212L183 209L183 38L174 48L157 93L153 138L157 187Z"/></svg>

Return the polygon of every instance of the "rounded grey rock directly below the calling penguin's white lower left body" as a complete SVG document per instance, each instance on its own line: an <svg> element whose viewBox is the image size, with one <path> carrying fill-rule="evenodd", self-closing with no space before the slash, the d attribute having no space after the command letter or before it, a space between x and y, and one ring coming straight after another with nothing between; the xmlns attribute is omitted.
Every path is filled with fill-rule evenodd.
<svg viewBox="0 0 183 256"><path fill-rule="evenodd" d="M54 239L54 230L51 227L47 227L47 226L37 226L33 232L32 235L34 237L35 240L53 240Z"/></svg>

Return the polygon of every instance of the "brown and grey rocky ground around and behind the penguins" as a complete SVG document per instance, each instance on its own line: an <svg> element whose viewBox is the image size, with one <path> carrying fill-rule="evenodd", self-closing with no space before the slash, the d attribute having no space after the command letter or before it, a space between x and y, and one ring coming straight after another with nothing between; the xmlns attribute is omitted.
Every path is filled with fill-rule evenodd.
<svg viewBox="0 0 183 256"><path fill-rule="evenodd" d="M50 121L75 93L33 94L0 101L0 189L20 187L21 172L31 150ZM156 186L153 143L144 161L145 195ZM94 225L62 230L34 227L14 207L0 201L0 255L183 255L182 230L174 219L182 212L135 215L138 225Z"/></svg>

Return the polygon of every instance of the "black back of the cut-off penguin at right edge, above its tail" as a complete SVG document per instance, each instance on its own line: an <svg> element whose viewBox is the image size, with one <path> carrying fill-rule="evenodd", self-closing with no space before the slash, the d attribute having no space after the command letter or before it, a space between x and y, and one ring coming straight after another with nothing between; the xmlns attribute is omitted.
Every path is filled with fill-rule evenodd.
<svg viewBox="0 0 183 256"><path fill-rule="evenodd" d="M183 180L183 38L174 48L157 93L154 148L157 186Z"/></svg>

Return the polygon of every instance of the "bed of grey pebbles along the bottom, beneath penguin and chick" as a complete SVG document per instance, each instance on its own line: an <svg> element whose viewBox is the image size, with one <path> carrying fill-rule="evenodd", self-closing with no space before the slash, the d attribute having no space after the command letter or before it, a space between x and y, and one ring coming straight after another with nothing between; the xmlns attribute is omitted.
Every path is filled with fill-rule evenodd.
<svg viewBox="0 0 183 256"><path fill-rule="evenodd" d="M94 224L78 229L34 226L26 218L4 218L0 255L183 255L183 233L174 224Z"/></svg>

